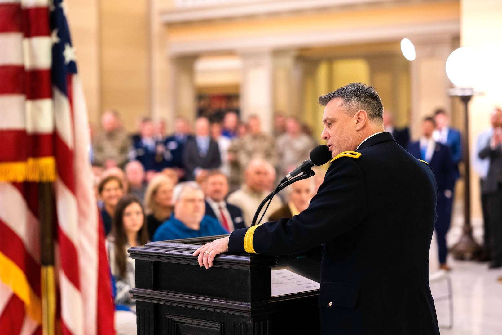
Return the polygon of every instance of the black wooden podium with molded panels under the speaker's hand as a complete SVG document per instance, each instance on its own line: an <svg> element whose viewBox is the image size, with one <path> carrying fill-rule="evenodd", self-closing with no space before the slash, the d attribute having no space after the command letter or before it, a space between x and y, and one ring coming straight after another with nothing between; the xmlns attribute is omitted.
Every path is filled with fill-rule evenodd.
<svg viewBox="0 0 502 335"><path fill-rule="evenodd" d="M129 249L136 260L138 335L319 333L318 290L271 296L271 270L320 282L319 246L292 256L218 255L213 267L192 256L224 236L152 242Z"/></svg>

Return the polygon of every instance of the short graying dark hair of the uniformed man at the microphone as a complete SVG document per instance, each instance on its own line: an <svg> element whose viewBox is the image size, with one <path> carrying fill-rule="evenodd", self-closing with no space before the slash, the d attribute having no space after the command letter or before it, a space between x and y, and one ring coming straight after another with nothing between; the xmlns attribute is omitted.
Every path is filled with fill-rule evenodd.
<svg viewBox="0 0 502 335"><path fill-rule="evenodd" d="M383 123L384 105L373 86L366 86L366 84L360 82L351 82L336 91L321 95L319 103L325 106L335 98L343 100L341 107L344 109L345 114L352 116L356 111L362 109L366 111L369 119Z"/></svg>

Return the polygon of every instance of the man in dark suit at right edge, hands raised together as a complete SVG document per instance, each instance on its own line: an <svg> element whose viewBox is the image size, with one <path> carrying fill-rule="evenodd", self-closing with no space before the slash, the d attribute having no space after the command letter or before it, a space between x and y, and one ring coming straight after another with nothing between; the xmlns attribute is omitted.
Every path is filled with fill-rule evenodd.
<svg viewBox="0 0 502 335"><path fill-rule="evenodd" d="M500 118L499 111L494 112ZM481 193L486 196L490 228L491 262L488 267L496 269L502 267L502 126L493 128L493 135L478 155L490 160Z"/></svg>

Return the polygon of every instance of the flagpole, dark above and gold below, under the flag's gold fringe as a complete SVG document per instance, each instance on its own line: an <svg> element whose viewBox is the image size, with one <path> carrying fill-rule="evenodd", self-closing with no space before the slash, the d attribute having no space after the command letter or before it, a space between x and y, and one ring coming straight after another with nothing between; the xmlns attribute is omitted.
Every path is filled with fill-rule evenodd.
<svg viewBox="0 0 502 335"><path fill-rule="evenodd" d="M38 185L42 269L42 334L55 335L54 194L52 183L41 182Z"/></svg>

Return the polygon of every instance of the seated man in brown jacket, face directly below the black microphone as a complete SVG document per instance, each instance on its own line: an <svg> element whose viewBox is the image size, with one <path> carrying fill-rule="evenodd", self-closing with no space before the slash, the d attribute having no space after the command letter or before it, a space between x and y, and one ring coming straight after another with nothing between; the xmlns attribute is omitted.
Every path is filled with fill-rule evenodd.
<svg viewBox="0 0 502 335"><path fill-rule="evenodd" d="M292 218L310 204L310 200L314 196L315 183L314 179L302 179L294 182L286 188L288 190L289 201L284 206L270 214L270 221L279 221L282 217Z"/></svg>

